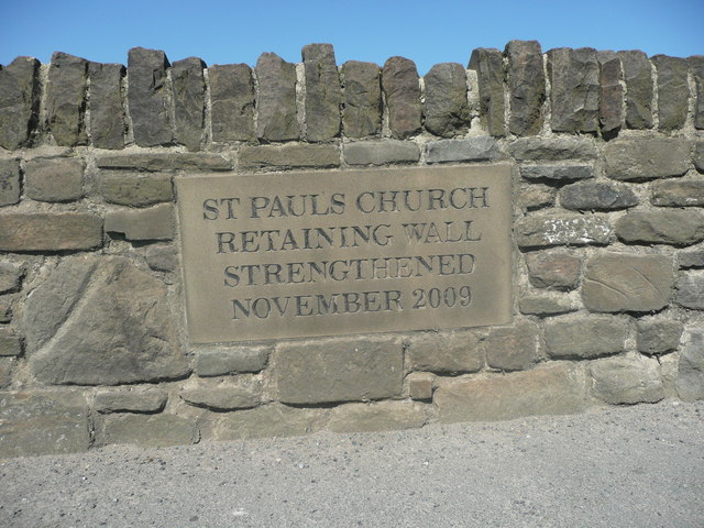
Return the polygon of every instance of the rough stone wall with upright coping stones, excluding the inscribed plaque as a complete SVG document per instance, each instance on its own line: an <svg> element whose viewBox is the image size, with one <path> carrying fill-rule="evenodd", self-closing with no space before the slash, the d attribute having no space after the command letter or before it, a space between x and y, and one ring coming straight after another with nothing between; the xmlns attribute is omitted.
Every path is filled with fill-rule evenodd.
<svg viewBox="0 0 704 528"><path fill-rule="evenodd" d="M193 345L174 180L514 173L507 327ZM704 397L704 56L475 50L465 68L0 69L0 455L420 427Z"/></svg>

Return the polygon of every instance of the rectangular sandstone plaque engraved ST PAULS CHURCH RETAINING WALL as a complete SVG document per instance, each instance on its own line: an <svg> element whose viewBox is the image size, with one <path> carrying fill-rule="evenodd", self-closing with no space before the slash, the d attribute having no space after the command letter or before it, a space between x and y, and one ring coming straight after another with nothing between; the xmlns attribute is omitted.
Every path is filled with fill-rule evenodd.
<svg viewBox="0 0 704 528"><path fill-rule="evenodd" d="M196 343L502 324L508 165L176 182Z"/></svg>

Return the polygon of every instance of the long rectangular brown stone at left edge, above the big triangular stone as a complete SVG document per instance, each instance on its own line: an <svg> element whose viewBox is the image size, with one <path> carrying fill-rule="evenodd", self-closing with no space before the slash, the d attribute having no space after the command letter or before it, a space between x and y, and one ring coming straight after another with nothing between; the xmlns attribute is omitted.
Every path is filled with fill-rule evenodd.
<svg viewBox="0 0 704 528"><path fill-rule="evenodd" d="M88 212L0 215L0 251L91 250L102 245L102 219Z"/></svg>

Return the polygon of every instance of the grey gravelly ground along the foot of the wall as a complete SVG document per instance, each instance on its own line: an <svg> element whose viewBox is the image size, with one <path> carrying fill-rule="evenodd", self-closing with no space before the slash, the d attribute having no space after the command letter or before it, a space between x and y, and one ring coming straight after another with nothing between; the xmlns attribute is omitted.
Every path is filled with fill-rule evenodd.
<svg viewBox="0 0 704 528"><path fill-rule="evenodd" d="M0 461L3 527L703 527L704 403Z"/></svg>

